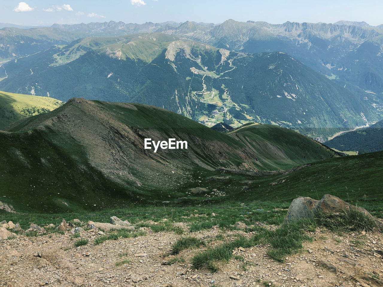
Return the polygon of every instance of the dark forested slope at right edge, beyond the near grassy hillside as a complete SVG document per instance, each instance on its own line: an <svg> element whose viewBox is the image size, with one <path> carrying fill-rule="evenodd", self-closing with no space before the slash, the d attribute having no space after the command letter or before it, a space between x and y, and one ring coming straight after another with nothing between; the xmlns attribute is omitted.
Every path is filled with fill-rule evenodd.
<svg viewBox="0 0 383 287"><path fill-rule="evenodd" d="M383 150L383 121L370 127L346 132L326 142L326 145L337 150L354 150L359 153Z"/></svg>

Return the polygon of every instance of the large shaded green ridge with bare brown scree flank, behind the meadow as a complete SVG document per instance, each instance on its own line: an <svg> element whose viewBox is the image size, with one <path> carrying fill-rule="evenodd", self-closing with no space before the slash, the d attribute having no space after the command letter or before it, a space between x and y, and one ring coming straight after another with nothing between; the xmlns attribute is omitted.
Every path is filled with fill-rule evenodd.
<svg viewBox="0 0 383 287"><path fill-rule="evenodd" d="M203 201L205 189L198 195L198 188L205 185L202 173L212 174L216 169L254 173L334 156L327 151L302 160L299 154L283 153L285 143L274 142L277 135L273 133L283 130L278 127L268 127L269 135L257 138L260 146L262 140L273 146L257 155L249 143L164 109L85 99L71 99L52 112L15 122L6 130L0 132L5 147L0 151L0 189L3 201L26 211L183 202L189 196ZM303 136L298 138L290 130L286 133L291 134L288 144L301 142ZM186 140L188 149L154 153L144 149L145 138ZM307 140L314 154L317 143ZM302 152L303 158L305 154ZM285 161L281 163L280 158ZM210 196L217 193L213 189L209 188Z"/></svg>

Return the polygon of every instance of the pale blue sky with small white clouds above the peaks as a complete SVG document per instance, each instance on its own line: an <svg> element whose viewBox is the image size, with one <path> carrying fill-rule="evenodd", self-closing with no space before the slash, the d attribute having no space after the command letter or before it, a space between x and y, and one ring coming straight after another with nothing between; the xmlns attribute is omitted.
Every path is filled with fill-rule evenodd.
<svg viewBox="0 0 383 287"><path fill-rule="evenodd" d="M0 0L0 22L51 26L105 21L222 23L266 21L383 24L382 0Z"/></svg>

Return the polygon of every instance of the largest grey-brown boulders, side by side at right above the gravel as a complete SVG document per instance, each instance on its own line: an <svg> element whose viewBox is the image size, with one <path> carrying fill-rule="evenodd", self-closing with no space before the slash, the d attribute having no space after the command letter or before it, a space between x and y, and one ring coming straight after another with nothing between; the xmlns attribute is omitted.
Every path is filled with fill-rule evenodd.
<svg viewBox="0 0 383 287"><path fill-rule="evenodd" d="M341 213L345 211L357 211L375 221L379 228L383 228L383 222L373 217L363 207L351 205L339 197L325 194L321 200L310 197L298 197L291 202L283 223L289 223L300 219L311 218L316 212L327 214Z"/></svg>

